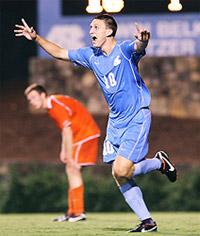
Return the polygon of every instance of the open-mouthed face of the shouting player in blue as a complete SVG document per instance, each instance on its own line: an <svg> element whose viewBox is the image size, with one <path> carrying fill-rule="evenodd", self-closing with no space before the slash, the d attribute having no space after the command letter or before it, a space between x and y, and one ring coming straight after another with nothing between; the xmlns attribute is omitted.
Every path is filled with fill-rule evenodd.
<svg viewBox="0 0 200 236"><path fill-rule="evenodd" d="M111 29L106 27L103 20L94 19L90 24L90 37L92 45L97 48L101 48L106 42L107 36L112 33Z"/></svg>

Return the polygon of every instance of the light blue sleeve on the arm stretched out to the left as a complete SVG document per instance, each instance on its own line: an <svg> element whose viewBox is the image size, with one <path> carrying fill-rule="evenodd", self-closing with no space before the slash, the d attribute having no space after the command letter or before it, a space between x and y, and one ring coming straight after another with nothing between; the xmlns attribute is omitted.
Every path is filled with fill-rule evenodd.
<svg viewBox="0 0 200 236"><path fill-rule="evenodd" d="M72 61L75 65L81 65L88 69L91 68L90 58L93 55L93 50L90 47L69 50L68 55L70 61Z"/></svg>

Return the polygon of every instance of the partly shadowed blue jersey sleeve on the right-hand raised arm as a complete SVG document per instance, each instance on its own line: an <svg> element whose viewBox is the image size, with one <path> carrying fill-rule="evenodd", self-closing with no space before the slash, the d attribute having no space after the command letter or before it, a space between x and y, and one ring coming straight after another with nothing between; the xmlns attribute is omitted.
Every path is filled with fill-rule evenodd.
<svg viewBox="0 0 200 236"><path fill-rule="evenodd" d="M132 58L134 63L138 64L138 62L146 54L146 52L145 50L140 53L136 52L134 45L135 45L135 41L126 40L120 46L125 57L128 59Z"/></svg>

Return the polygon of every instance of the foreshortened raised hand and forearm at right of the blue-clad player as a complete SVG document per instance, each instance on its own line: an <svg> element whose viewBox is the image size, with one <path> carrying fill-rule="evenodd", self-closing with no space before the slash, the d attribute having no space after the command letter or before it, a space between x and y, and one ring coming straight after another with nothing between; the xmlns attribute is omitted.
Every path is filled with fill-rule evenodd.
<svg viewBox="0 0 200 236"><path fill-rule="evenodd" d="M143 51L149 42L150 39L150 32L147 29L144 29L141 25L135 24L136 26L136 43L135 43L135 50L137 52Z"/></svg>

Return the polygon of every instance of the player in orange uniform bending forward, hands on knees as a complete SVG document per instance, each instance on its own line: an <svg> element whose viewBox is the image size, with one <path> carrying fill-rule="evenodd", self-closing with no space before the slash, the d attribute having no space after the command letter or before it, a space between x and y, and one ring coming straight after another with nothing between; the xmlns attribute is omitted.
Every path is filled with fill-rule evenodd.
<svg viewBox="0 0 200 236"><path fill-rule="evenodd" d="M95 165L100 131L86 108L74 98L47 95L43 86L32 84L25 96L35 109L43 109L61 129L60 160L68 177L68 211L54 221L77 222L85 220L84 186L81 167Z"/></svg>

